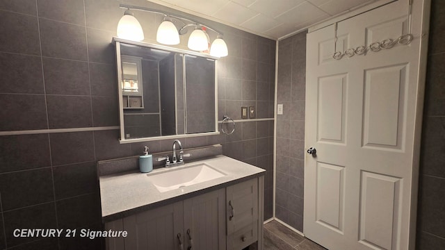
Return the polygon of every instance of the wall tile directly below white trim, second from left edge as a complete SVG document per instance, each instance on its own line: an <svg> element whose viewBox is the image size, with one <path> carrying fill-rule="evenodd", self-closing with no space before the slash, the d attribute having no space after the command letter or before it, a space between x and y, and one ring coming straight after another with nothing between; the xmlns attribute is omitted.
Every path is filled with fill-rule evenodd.
<svg viewBox="0 0 445 250"><path fill-rule="evenodd" d="M92 131L86 131L50 134L49 140L51 142L53 165L83 163L95 160L92 133ZM97 147L105 147L105 145L108 147L108 144L96 145Z"/></svg>

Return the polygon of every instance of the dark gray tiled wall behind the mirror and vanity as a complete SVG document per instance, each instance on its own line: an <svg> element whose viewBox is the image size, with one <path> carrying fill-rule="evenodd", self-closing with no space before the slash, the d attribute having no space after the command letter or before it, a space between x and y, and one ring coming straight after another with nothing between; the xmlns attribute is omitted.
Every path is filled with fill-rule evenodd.
<svg viewBox="0 0 445 250"><path fill-rule="evenodd" d="M0 1L0 131L118 126L111 38L124 12L119 3ZM176 12L145 0L126 3ZM162 17L136 17L146 41L154 42ZM241 105L256 106L257 117L273 117L275 41L204 23L223 32L229 47L218 64L220 119L240 119ZM187 38L181 39L184 48ZM101 239L14 238L12 232L102 228L97 160L135 156L145 144L152 152L168 151L172 144L119 144L118 138L118 130L0 136L0 249L104 247ZM227 156L267 169L265 217L272 216L272 121L238 123L233 135L181 142L186 148L221 143Z"/></svg>

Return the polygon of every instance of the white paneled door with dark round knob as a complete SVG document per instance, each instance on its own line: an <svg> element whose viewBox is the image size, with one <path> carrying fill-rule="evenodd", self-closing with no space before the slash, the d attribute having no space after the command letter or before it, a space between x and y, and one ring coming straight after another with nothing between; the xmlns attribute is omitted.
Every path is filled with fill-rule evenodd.
<svg viewBox="0 0 445 250"><path fill-rule="evenodd" d="M423 8L413 1L411 29L407 0L339 22L337 51L414 35L362 56L332 58L334 25L307 35L303 233L327 249L414 249Z"/></svg>

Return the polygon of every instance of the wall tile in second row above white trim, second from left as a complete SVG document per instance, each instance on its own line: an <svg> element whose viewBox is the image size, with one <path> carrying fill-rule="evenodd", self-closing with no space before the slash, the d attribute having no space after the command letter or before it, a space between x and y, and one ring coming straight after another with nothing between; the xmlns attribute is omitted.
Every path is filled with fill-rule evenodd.
<svg viewBox="0 0 445 250"><path fill-rule="evenodd" d="M43 69L47 94L90 94L88 63L43 58Z"/></svg>

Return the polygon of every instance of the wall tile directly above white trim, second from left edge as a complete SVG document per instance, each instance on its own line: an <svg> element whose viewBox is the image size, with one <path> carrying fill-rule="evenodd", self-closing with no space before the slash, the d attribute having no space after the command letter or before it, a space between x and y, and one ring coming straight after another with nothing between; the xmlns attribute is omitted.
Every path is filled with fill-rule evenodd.
<svg viewBox="0 0 445 250"><path fill-rule="evenodd" d="M47 96L49 128L84 128L92 126L91 98Z"/></svg>

